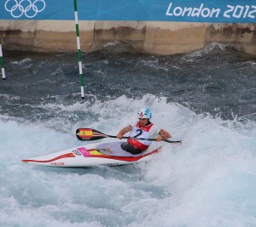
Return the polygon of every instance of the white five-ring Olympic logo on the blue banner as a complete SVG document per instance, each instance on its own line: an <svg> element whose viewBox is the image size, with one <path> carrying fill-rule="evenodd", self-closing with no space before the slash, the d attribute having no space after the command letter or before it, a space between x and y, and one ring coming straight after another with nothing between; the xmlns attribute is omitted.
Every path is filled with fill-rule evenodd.
<svg viewBox="0 0 256 227"><path fill-rule="evenodd" d="M35 0L33 3L31 0L7 0L4 4L5 9L10 12L12 17L19 18L23 14L27 18L33 18L38 13L44 11L46 3L44 0Z"/></svg>

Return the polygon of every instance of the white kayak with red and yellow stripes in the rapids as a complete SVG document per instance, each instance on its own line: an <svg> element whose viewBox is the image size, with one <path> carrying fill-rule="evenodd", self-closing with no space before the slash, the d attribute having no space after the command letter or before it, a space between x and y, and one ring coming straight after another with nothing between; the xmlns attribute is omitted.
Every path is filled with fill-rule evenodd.
<svg viewBox="0 0 256 227"><path fill-rule="evenodd" d="M79 146L45 156L24 159L22 162L48 167L118 166L151 160L152 156L159 153L162 147L161 143L154 142L148 150L134 156L122 150L120 146L122 143L124 142L113 141Z"/></svg>

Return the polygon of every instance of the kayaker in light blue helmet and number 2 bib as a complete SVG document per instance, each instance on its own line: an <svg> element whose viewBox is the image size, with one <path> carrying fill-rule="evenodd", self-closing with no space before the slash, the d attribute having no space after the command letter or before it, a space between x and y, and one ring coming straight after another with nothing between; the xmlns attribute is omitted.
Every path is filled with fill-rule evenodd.
<svg viewBox="0 0 256 227"><path fill-rule="evenodd" d="M160 142L162 139L171 138L171 134L166 132L162 128L155 128L154 123L150 122L152 113L148 108L143 108L137 113L139 119L135 125L127 125L122 128L116 135L118 139L121 139L125 133L131 132L129 137L131 138L144 138L148 139L150 136L156 136L156 141ZM127 139L127 142L121 144L123 150L137 155L147 150L152 141L139 140L139 139Z"/></svg>

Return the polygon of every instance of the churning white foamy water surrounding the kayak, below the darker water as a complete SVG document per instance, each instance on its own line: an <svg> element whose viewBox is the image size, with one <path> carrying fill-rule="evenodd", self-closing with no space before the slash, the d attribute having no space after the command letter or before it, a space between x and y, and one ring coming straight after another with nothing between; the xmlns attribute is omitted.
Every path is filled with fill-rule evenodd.
<svg viewBox="0 0 256 227"><path fill-rule="evenodd" d="M137 110L144 106L153 111L153 122L183 144L166 144L153 162L131 167L56 169L22 163L86 142L75 138L77 126L67 126L68 133L50 128L61 123L59 118L43 125L2 116L0 225L255 225L255 122L243 125L236 119L197 115L149 94L44 108L70 114L88 111L96 118L88 115L90 119L77 125L115 135L136 121Z"/></svg>

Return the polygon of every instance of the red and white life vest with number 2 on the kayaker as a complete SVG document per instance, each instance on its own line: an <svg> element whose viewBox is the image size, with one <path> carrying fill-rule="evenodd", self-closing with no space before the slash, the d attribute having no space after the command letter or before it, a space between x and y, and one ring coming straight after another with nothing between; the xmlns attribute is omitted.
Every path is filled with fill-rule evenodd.
<svg viewBox="0 0 256 227"><path fill-rule="evenodd" d="M134 128L132 128L129 136L135 137L135 138L148 139L150 128L152 128L153 125L154 125L154 123L149 123L146 126L141 126L140 122L137 122L136 126ZM152 144L151 141L137 140L137 139L127 139L127 142L130 145L133 145L134 147L136 147L137 149L140 149L140 150L147 150L148 146Z"/></svg>

